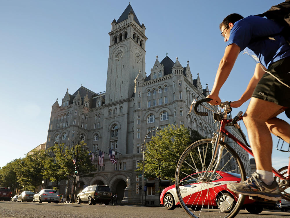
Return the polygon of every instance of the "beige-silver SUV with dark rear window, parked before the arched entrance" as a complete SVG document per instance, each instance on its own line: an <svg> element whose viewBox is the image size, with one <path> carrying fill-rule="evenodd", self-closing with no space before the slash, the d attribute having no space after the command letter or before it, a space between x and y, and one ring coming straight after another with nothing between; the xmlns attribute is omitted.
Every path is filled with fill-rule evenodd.
<svg viewBox="0 0 290 218"><path fill-rule="evenodd" d="M111 190L108 185L89 185L77 194L77 204L82 201L88 204L104 203L109 205L111 200Z"/></svg>

